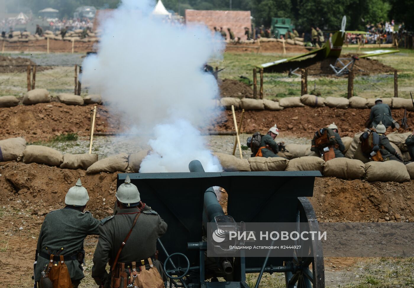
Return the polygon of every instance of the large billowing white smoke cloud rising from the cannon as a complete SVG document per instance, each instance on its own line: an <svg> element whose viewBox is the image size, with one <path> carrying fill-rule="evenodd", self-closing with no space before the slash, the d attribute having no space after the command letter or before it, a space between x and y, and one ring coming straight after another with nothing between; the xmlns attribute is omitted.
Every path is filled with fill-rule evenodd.
<svg viewBox="0 0 414 288"><path fill-rule="evenodd" d="M188 171L194 159L221 171L196 127L219 113L217 82L202 66L220 56L223 41L205 26L164 23L151 15L154 5L123 0L102 24L98 53L84 60L82 84L134 123L131 131L153 135L140 172Z"/></svg>

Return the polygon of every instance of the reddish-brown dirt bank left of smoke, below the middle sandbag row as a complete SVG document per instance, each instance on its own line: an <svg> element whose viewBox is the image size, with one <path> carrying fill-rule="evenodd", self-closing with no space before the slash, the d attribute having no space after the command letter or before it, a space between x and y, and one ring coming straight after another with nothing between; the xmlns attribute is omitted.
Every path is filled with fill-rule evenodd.
<svg viewBox="0 0 414 288"><path fill-rule="evenodd" d="M89 135L90 110L93 105L71 106L59 102L0 108L0 139L22 136L26 141L46 141L62 133ZM111 118L111 121L108 121ZM97 132L115 132L119 118L104 106L97 107Z"/></svg>

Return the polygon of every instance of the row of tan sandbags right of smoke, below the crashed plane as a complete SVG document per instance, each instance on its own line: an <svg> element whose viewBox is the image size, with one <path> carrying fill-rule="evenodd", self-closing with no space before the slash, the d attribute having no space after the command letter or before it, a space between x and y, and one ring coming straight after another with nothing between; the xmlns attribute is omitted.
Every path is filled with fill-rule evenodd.
<svg viewBox="0 0 414 288"><path fill-rule="evenodd" d="M404 109L414 111L414 106L411 99L404 98L381 98L383 103L388 104L390 108ZM370 109L375 105L375 98L362 98L359 96L353 96L349 99L344 97L332 97L328 96L323 98L321 96L315 96L311 94L305 94L300 97L286 97L281 98L279 101L272 101L268 99L250 99L250 98L232 98L223 97L220 99L220 105L226 110L231 110L231 105L234 109L244 110L282 110L283 108L293 107L324 107L347 109Z"/></svg>

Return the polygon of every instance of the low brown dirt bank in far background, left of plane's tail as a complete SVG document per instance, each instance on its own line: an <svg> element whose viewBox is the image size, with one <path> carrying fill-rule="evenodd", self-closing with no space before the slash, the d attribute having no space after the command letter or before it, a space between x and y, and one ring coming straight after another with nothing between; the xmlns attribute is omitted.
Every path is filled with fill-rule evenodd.
<svg viewBox="0 0 414 288"><path fill-rule="evenodd" d="M251 46L251 48L249 47ZM260 50L257 43L227 43L226 51L229 52L265 52L265 53L283 53L283 44L281 42L261 42ZM305 47L285 43L287 53L306 53L309 52ZM259 51L258 51L259 50Z"/></svg>

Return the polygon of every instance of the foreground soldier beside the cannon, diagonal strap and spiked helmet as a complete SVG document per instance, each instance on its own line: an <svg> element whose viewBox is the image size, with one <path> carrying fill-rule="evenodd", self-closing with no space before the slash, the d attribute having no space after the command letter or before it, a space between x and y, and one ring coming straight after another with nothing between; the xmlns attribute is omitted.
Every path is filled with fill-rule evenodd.
<svg viewBox="0 0 414 288"><path fill-rule="evenodd" d="M105 269L107 263L109 263L111 269L114 264L124 263L125 272L129 276L132 270L132 262L137 263L138 271L142 263L144 263L146 269L149 269L148 258L152 259L152 263L161 278L166 281L167 278L162 264L156 260L155 254L156 241L166 232L167 224L158 213L141 202L140 192L138 192L137 186L131 183L128 175L125 183L118 187L115 196L118 200L118 212L99 227L99 240L94 253L94 265L92 266L92 277L96 284L111 287L111 276ZM137 218L135 226L132 227L137 213L141 214ZM125 242L117 263L113 263L121 243L130 231L130 237ZM115 269L119 269L118 265ZM123 287L122 282L120 287Z"/></svg>

